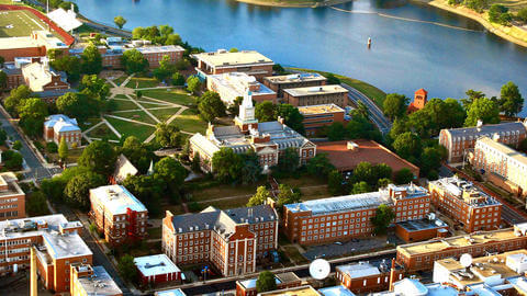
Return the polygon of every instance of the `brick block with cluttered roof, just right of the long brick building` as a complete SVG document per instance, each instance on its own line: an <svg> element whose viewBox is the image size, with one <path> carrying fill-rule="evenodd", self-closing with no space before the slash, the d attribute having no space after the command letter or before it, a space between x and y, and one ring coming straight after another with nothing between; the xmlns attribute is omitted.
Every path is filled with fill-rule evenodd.
<svg viewBox="0 0 527 296"><path fill-rule="evenodd" d="M458 177L428 183L433 205L464 231L493 230L502 223L502 204Z"/></svg>

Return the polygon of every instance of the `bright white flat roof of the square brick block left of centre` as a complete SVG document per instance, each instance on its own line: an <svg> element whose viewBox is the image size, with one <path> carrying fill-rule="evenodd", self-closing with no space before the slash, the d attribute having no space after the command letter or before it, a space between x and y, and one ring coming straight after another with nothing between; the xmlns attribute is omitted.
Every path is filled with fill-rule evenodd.
<svg viewBox="0 0 527 296"><path fill-rule="evenodd" d="M135 212L146 212L146 207L128 190L122 185L108 185L90 190L90 198L99 200L112 215L126 214L130 208Z"/></svg>

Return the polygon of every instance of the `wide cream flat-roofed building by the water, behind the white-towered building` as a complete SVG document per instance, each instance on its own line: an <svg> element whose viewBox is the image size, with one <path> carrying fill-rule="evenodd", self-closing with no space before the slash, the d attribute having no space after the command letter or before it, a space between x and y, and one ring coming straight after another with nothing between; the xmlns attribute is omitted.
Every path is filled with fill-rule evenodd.
<svg viewBox="0 0 527 296"><path fill-rule="evenodd" d="M197 61L198 75L205 79L210 75L226 72L245 72L261 80L264 77L272 76L274 62L256 50L240 50L229 53L225 49L217 52L201 53L191 55Z"/></svg>

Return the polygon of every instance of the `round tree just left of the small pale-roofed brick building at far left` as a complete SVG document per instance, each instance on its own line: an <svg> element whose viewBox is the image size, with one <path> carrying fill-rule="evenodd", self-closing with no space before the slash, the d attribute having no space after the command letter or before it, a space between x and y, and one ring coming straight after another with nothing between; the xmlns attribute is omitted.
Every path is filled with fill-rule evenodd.
<svg viewBox="0 0 527 296"><path fill-rule="evenodd" d="M23 100L18 107L20 126L30 137L42 135L47 104L38 98Z"/></svg>

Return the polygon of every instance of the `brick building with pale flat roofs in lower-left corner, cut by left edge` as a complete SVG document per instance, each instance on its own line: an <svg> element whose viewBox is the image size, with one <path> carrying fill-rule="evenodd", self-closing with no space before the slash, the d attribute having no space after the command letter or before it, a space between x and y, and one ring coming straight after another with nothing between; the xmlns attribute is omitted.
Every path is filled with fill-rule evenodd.
<svg viewBox="0 0 527 296"><path fill-rule="evenodd" d="M44 286L56 293L69 291L69 266L91 264L92 253L78 231L80 221L49 215L0 221L0 275L29 269L35 255Z"/></svg>

